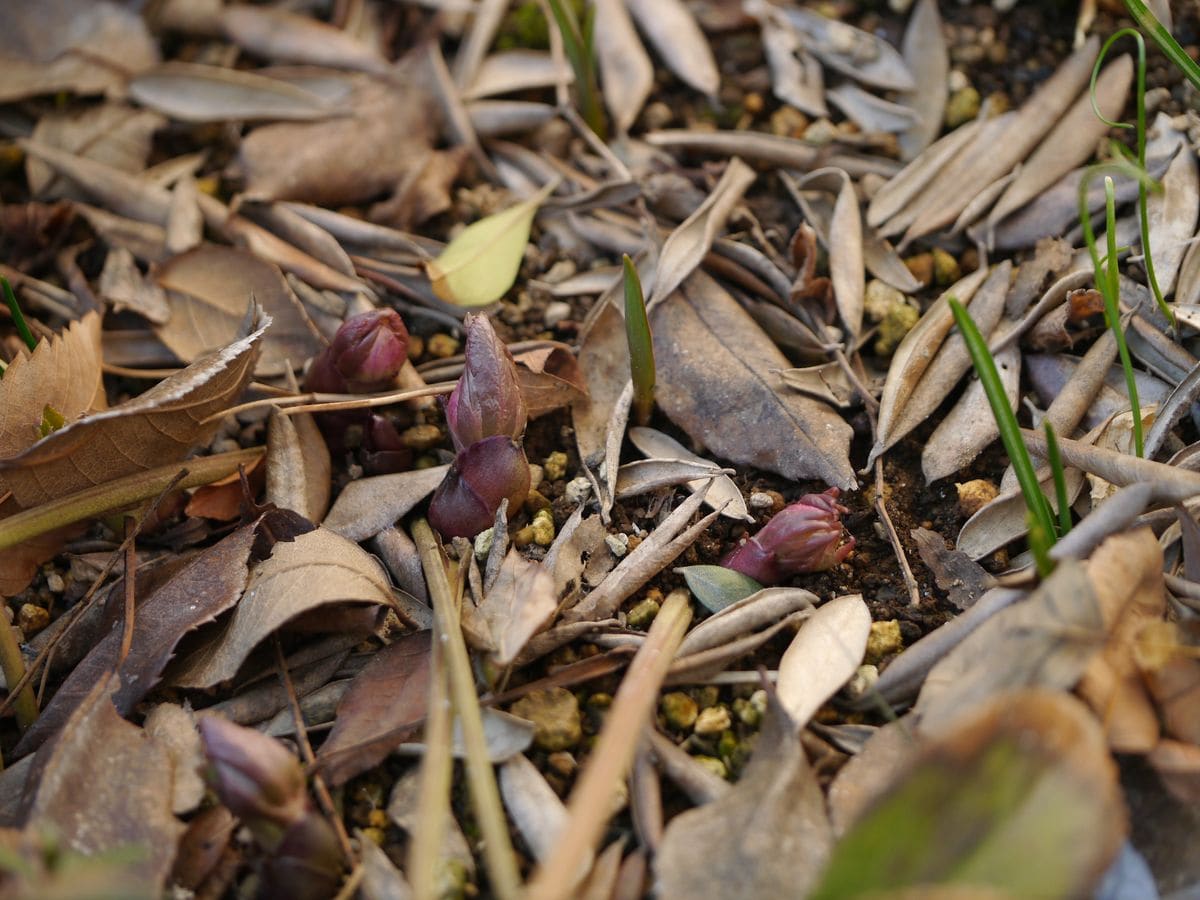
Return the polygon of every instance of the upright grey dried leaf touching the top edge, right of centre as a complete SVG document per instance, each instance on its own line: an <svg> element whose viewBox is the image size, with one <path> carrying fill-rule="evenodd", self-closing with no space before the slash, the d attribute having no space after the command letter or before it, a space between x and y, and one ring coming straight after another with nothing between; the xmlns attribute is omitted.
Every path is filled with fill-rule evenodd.
<svg viewBox="0 0 1200 900"><path fill-rule="evenodd" d="M913 122L900 133L900 158L912 160L941 132L949 97L950 58L936 0L918 0L900 52L917 85L899 98L913 113Z"/></svg>

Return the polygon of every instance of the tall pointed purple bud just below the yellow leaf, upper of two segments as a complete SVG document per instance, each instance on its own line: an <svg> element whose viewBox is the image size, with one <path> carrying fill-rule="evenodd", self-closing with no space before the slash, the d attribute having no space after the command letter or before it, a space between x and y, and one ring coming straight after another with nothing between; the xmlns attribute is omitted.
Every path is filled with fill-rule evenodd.
<svg viewBox="0 0 1200 900"><path fill-rule="evenodd" d="M455 450L504 434L520 438L528 414L512 354L486 316L468 316L467 365L446 400L446 425Z"/></svg>

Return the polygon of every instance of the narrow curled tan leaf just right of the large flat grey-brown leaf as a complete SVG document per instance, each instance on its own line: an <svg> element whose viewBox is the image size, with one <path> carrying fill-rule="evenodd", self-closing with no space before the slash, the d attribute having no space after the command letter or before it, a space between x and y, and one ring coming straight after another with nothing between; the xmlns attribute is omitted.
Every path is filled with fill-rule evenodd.
<svg viewBox="0 0 1200 900"><path fill-rule="evenodd" d="M970 310L971 299L986 277L988 268L980 265L942 292L941 296L925 310L917 324L896 347L892 355L892 365L888 367L887 380L883 383L883 395L880 397L880 419L875 430L875 446L871 448L868 464L875 462L890 445L893 430L900 420L908 396L916 390L925 370L929 368L946 337L950 334L950 329L954 328L954 316L950 313L947 299L953 296L960 304L967 305ZM1001 301L1003 301L1007 288L1006 282L1000 290Z"/></svg>

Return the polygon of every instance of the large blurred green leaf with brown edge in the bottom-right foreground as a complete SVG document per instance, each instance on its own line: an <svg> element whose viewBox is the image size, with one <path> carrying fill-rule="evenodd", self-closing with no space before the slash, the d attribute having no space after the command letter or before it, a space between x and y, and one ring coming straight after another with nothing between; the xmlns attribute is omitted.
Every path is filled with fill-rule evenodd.
<svg viewBox="0 0 1200 900"><path fill-rule="evenodd" d="M842 838L810 898L1091 895L1128 818L1087 709L1067 694L1008 691L964 706L950 726Z"/></svg>

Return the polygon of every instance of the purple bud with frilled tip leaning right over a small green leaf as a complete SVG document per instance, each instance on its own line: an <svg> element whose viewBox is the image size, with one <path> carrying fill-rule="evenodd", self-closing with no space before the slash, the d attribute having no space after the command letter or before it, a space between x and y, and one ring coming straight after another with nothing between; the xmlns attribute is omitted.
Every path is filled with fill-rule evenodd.
<svg viewBox="0 0 1200 900"><path fill-rule="evenodd" d="M776 512L762 529L727 556L721 565L749 575L763 584L778 584L792 575L823 572L839 565L854 548L854 539L841 544L840 491L805 494Z"/></svg>

